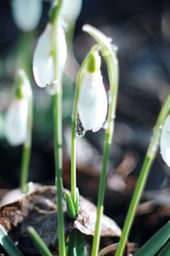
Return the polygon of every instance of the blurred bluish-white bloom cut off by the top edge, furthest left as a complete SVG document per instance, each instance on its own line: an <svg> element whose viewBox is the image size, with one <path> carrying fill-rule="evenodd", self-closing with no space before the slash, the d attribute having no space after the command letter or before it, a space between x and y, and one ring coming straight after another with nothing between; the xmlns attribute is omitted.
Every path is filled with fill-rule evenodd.
<svg viewBox="0 0 170 256"><path fill-rule="evenodd" d="M37 27L42 15L42 0L13 0L12 13L20 30L28 32Z"/></svg>

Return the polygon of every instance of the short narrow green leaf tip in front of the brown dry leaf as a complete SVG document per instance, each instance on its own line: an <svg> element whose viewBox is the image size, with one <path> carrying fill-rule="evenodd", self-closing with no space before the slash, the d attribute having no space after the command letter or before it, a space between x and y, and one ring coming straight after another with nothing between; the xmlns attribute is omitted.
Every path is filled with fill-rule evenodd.
<svg viewBox="0 0 170 256"><path fill-rule="evenodd" d="M42 241L42 238L37 234L36 230L34 230L32 227L29 227L28 232L42 256L53 256L52 253L50 253L50 251L48 250L48 247L46 246L44 241Z"/></svg>

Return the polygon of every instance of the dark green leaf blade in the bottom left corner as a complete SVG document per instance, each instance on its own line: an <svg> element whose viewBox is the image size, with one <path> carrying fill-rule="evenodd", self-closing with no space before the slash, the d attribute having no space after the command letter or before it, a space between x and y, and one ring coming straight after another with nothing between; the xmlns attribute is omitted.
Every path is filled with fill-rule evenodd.
<svg viewBox="0 0 170 256"><path fill-rule="evenodd" d="M14 241L8 236L7 232L0 224L0 244L3 246L9 256L23 256L19 248L15 246Z"/></svg>

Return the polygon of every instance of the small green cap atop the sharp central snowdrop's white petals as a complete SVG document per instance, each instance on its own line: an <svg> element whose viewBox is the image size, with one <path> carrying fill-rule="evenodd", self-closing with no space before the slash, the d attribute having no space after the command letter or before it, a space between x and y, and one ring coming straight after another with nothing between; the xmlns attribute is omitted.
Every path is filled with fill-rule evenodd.
<svg viewBox="0 0 170 256"><path fill-rule="evenodd" d="M89 53L88 62L87 62L87 70L89 73L94 73L99 71L101 66L101 60L98 51L94 51Z"/></svg>

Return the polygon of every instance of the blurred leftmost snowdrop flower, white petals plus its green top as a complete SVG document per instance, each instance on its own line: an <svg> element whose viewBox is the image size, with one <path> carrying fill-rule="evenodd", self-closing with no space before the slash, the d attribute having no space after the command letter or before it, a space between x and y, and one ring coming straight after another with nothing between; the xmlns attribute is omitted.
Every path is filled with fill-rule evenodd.
<svg viewBox="0 0 170 256"><path fill-rule="evenodd" d="M17 74L15 97L5 114L5 136L13 146L18 146L26 141L29 97L31 96L30 84L20 70Z"/></svg>

